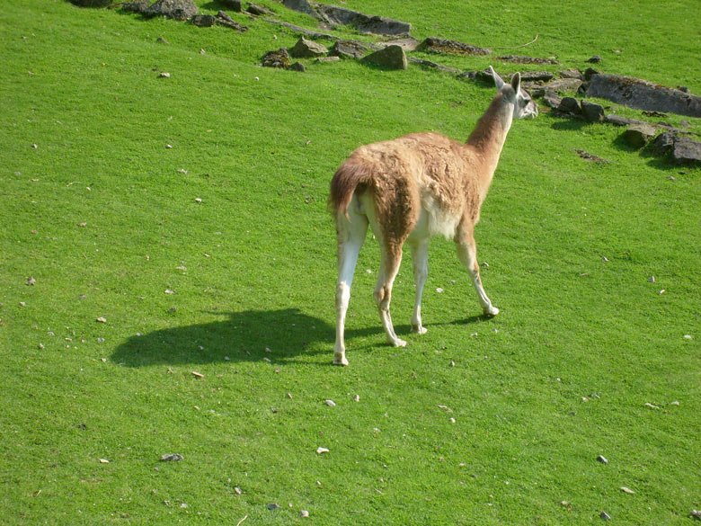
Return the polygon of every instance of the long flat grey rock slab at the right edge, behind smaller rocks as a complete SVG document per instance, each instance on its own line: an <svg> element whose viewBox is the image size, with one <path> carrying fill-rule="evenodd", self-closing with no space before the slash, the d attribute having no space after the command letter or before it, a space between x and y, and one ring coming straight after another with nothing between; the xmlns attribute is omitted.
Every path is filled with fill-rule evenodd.
<svg viewBox="0 0 701 526"><path fill-rule="evenodd" d="M688 117L701 117L701 97L631 76L593 75L587 95L636 110L665 111Z"/></svg>

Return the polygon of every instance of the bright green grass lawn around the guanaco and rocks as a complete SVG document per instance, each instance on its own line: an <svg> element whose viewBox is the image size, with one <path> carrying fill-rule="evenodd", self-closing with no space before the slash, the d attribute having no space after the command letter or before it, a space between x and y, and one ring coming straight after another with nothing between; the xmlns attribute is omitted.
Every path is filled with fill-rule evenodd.
<svg viewBox="0 0 701 526"><path fill-rule="evenodd" d="M582 68L599 54L604 71L701 93L701 13L668 4L346 5L413 22L417 38L497 47L538 34L504 53ZM501 315L477 316L452 244L436 239L429 333L408 334L407 255L393 313L409 345L387 347L368 237L351 366L333 368L333 171L411 131L466 138L493 88L415 66L263 69L295 35L235 18L251 29L49 0L0 14L2 522L579 525L606 511L691 523L701 170L622 146L606 125L515 122L477 227ZM159 461L173 452L184 459Z"/></svg>

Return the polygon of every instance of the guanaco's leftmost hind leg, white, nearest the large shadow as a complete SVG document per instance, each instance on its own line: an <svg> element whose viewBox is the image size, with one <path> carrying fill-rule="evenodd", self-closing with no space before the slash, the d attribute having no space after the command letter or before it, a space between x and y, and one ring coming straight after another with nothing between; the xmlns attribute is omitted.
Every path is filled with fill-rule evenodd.
<svg viewBox="0 0 701 526"><path fill-rule="evenodd" d="M353 272L358 263L360 247L368 232L368 218L351 205L349 217L339 214L336 218L338 236L338 283L336 284L336 343L333 346L333 364L348 365L344 331L346 312L351 300Z"/></svg>

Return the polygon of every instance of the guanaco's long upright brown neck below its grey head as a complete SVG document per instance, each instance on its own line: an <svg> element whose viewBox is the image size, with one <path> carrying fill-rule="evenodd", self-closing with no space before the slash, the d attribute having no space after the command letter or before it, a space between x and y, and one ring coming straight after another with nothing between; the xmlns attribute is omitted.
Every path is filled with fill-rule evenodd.
<svg viewBox="0 0 701 526"><path fill-rule="evenodd" d="M498 94L477 120L475 129L467 138L466 147L472 150L479 165L479 179L482 187L482 198L492 183L492 176L499 163L501 148L504 146L506 135L509 133L513 120L513 108L503 94Z"/></svg>

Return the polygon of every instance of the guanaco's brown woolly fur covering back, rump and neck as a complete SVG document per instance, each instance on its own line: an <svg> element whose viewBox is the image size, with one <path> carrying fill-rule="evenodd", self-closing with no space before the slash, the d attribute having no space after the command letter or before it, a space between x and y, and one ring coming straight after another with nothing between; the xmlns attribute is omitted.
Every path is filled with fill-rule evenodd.
<svg viewBox="0 0 701 526"><path fill-rule="evenodd" d="M495 118L503 106L499 94L466 144L428 132L359 147L333 175L334 217L347 216L354 192L371 192L386 243L394 249L413 230L427 195L443 212L475 225L506 136Z"/></svg>

